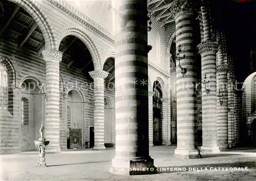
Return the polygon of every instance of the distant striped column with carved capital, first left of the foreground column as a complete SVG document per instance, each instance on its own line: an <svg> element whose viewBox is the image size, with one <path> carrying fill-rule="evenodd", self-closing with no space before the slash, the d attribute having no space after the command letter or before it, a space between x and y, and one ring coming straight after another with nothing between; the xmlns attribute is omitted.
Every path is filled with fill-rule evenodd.
<svg viewBox="0 0 256 181"><path fill-rule="evenodd" d="M103 150L104 146L104 79L105 71L89 72L94 80L94 150Z"/></svg>

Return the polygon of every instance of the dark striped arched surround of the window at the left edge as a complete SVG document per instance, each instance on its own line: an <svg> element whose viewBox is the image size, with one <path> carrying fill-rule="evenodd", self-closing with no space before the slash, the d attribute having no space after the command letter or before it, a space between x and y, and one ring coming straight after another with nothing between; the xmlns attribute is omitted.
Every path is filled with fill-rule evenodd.
<svg viewBox="0 0 256 181"><path fill-rule="evenodd" d="M16 72L13 64L7 57L0 56L0 63L5 65L8 72L8 110L13 115L13 90L16 88Z"/></svg>

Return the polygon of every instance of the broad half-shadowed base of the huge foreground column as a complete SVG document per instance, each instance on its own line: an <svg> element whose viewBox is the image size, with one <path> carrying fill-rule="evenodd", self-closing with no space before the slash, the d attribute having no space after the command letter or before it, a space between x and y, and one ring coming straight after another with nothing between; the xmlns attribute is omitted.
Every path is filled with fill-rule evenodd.
<svg viewBox="0 0 256 181"><path fill-rule="evenodd" d="M157 168L154 166L154 160L149 156L147 158L140 158L129 160L129 157L115 157L112 160L110 168L112 174L117 175L145 175L157 173Z"/></svg>

